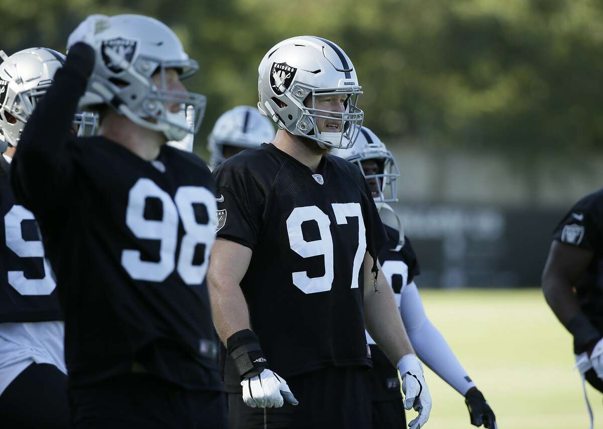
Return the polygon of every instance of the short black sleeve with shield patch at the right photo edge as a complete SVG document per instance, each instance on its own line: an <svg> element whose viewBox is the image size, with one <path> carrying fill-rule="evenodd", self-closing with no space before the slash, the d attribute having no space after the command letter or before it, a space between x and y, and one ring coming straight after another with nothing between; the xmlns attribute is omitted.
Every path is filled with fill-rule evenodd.
<svg viewBox="0 0 603 429"><path fill-rule="evenodd" d="M602 204L603 198L597 198L596 195L578 201L555 228L553 239L591 251L599 249Z"/></svg>

